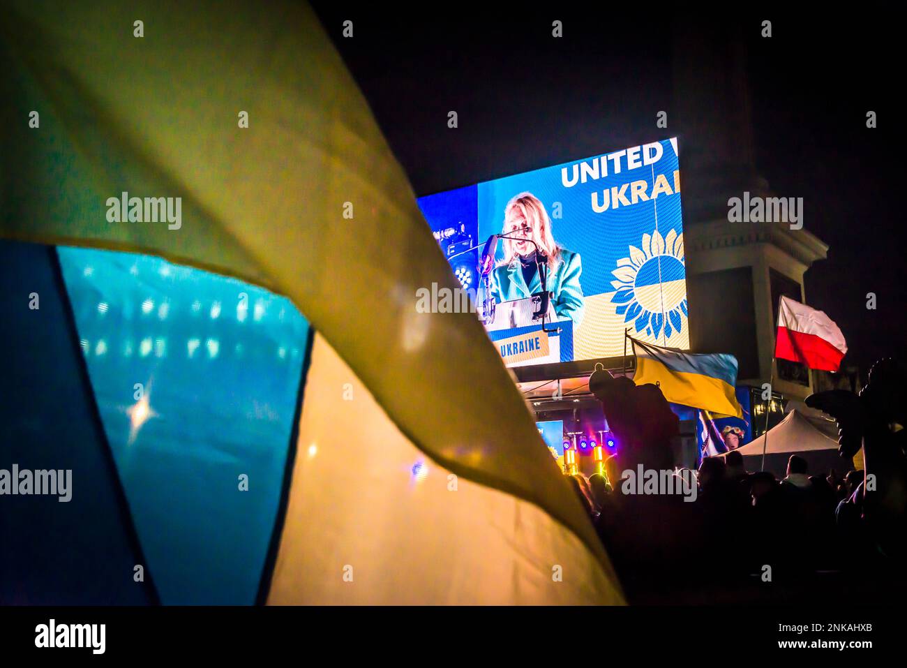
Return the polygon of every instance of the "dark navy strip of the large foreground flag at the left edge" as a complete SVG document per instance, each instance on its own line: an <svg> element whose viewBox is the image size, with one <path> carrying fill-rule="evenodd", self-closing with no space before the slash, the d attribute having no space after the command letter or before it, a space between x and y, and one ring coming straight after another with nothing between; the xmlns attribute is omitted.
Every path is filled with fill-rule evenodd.
<svg viewBox="0 0 907 668"><path fill-rule="evenodd" d="M0 468L71 469L72 496L0 496L0 604L154 603L53 253L0 242Z"/></svg>

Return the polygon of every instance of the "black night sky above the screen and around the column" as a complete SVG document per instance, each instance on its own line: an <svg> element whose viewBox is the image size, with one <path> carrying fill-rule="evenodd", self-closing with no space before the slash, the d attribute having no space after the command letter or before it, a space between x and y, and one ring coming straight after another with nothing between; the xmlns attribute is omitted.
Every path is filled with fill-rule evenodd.
<svg viewBox="0 0 907 668"><path fill-rule="evenodd" d="M489 5L407 14L315 4L417 195L671 136L672 15ZM901 20L865 14L722 19L744 34L757 171L776 195L804 198L805 229L830 247L806 272L806 300L840 325L844 364L863 374L874 359L902 357L907 326ZM353 39L341 36L346 19ZM655 127L659 110L667 130ZM683 171L682 145L680 161ZM867 292L877 309L866 309Z"/></svg>

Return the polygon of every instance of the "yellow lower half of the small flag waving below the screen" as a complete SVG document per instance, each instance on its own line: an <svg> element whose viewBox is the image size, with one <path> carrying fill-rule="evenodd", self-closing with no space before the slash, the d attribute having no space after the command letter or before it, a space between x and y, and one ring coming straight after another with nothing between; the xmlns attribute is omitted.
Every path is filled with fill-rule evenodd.
<svg viewBox="0 0 907 668"><path fill-rule="evenodd" d="M633 382L637 385L658 383L668 401L693 408L704 408L723 416L743 417L734 387L720 378L698 373L675 371L655 359L637 357Z"/></svg>

